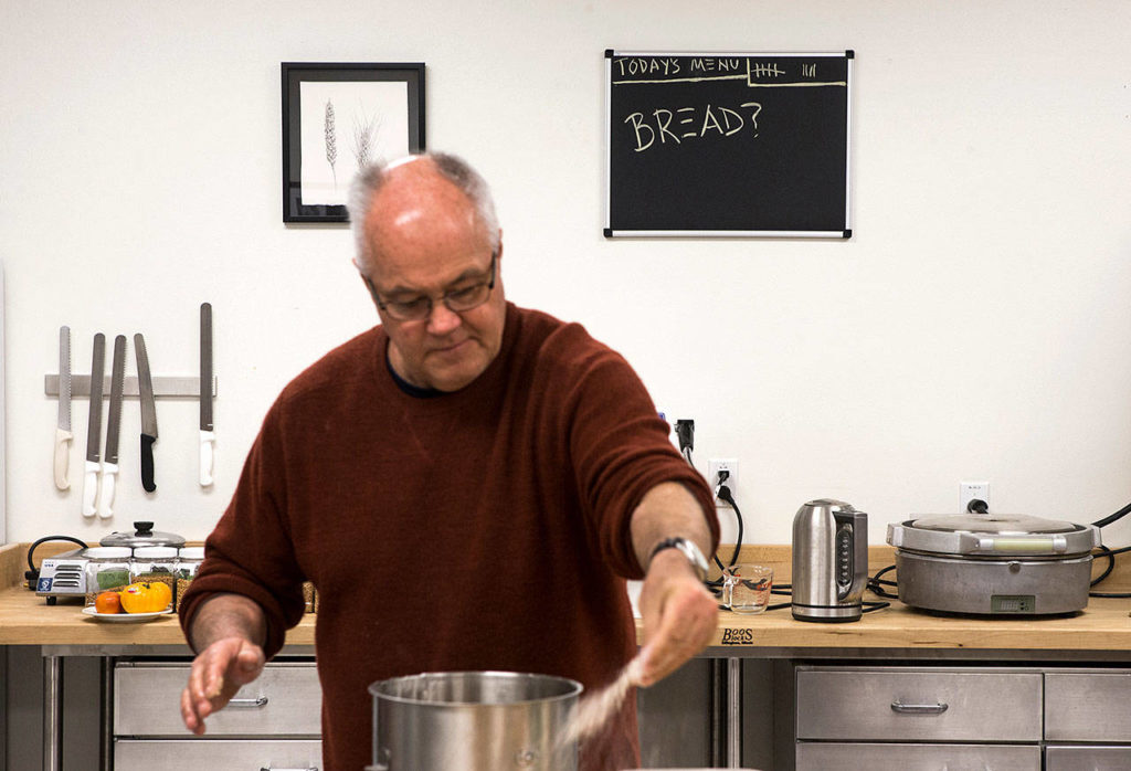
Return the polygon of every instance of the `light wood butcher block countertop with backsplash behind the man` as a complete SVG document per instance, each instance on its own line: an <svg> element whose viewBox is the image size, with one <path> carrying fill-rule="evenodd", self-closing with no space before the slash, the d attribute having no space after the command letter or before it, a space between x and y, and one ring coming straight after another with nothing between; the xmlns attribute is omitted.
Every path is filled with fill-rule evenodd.
<svg viewBox="0 0 1131 771"><path fill-rule="evenodd" d="M5 646L183 646L184 638L175 616L156 621L122 624L104 623L81 613L77 600L46 605L19 582L26 568L27 544L0 546L0 644ZM729 555L727 547L719 549ZM744 562L760 562L775 568L775 582L789 579L788 546L748 546ZM38 552L37 552L38 555ZM892 549L870 549L872 572L893 563ZM1095 572L1106 564L1097 561ZM891 578L888 574L886 578ZM1128 591L1131 569L1116 572L1097 589ZM870 594L865 600L877 600ZM788 601L775 596L771 603ZM1029 650L1029 651L1131 651L1131 599L1091 598L1088 607L1069 617L967 618L940 616L912 609L898 600L891 606L865 613L858 622L824 624L794 621L789 609L769 610L757 616L719 614L719 626L710 643L711 655L742 656L766 649L943 649L943 650ZM308 614L287 632L288 646L312 646L314 615ZM642 630L638 632L642 635ZM731 651L731 652L727 652ZM819 653L810 651L811 655Z"/></svg>

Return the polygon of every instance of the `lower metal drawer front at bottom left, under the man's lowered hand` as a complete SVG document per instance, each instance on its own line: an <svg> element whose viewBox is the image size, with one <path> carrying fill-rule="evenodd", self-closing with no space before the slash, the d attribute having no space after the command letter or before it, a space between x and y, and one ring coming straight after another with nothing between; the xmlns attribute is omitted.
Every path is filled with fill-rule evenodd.
<svg viewBox="0 0 1131 771"><path fill-rule="evenodd" d="M318 771L322 743L310 739L119 739L114 771Z"/></svg>

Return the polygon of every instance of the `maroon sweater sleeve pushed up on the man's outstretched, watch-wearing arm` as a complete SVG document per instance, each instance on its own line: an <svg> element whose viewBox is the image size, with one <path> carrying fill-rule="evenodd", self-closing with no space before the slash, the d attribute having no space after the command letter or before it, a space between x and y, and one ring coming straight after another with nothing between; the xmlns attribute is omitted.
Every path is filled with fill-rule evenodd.
<svg viewBox="0 0 1131 771"><path fill-rule="evenodd" d="M577 326L567 330L579 331ZM618 353L594 341L569 357L568 409L563 426L590 531L602 556L624 578L639 579L644 570L632 547L632 513L645 494L665 482L683 484L699 502L711 534L711 553L718 546L715 504L702 476L668 439L663 421L644 383Z"/></svg>

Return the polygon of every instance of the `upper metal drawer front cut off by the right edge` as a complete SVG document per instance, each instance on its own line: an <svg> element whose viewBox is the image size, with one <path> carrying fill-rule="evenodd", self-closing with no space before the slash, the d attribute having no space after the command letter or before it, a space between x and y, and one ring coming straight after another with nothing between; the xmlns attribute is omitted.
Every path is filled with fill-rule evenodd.
<svg viewBox="0 0 1131 771"><path fill-rule="evenodd" d="M1131 742L1131 673L1047 673L1045 738Z"/></svg>

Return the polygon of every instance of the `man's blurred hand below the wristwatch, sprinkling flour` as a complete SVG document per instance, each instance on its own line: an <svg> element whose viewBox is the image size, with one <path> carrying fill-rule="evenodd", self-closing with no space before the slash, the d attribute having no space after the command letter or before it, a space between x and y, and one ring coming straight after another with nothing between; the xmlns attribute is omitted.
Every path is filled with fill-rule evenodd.
<svg viewBox="0 0 1131 771"><path fill-rule="evenodd" d="M679 549L659 552L640 590L644 649L637 685L651 685L701 651L718 625L718 600Z"/></svg>

